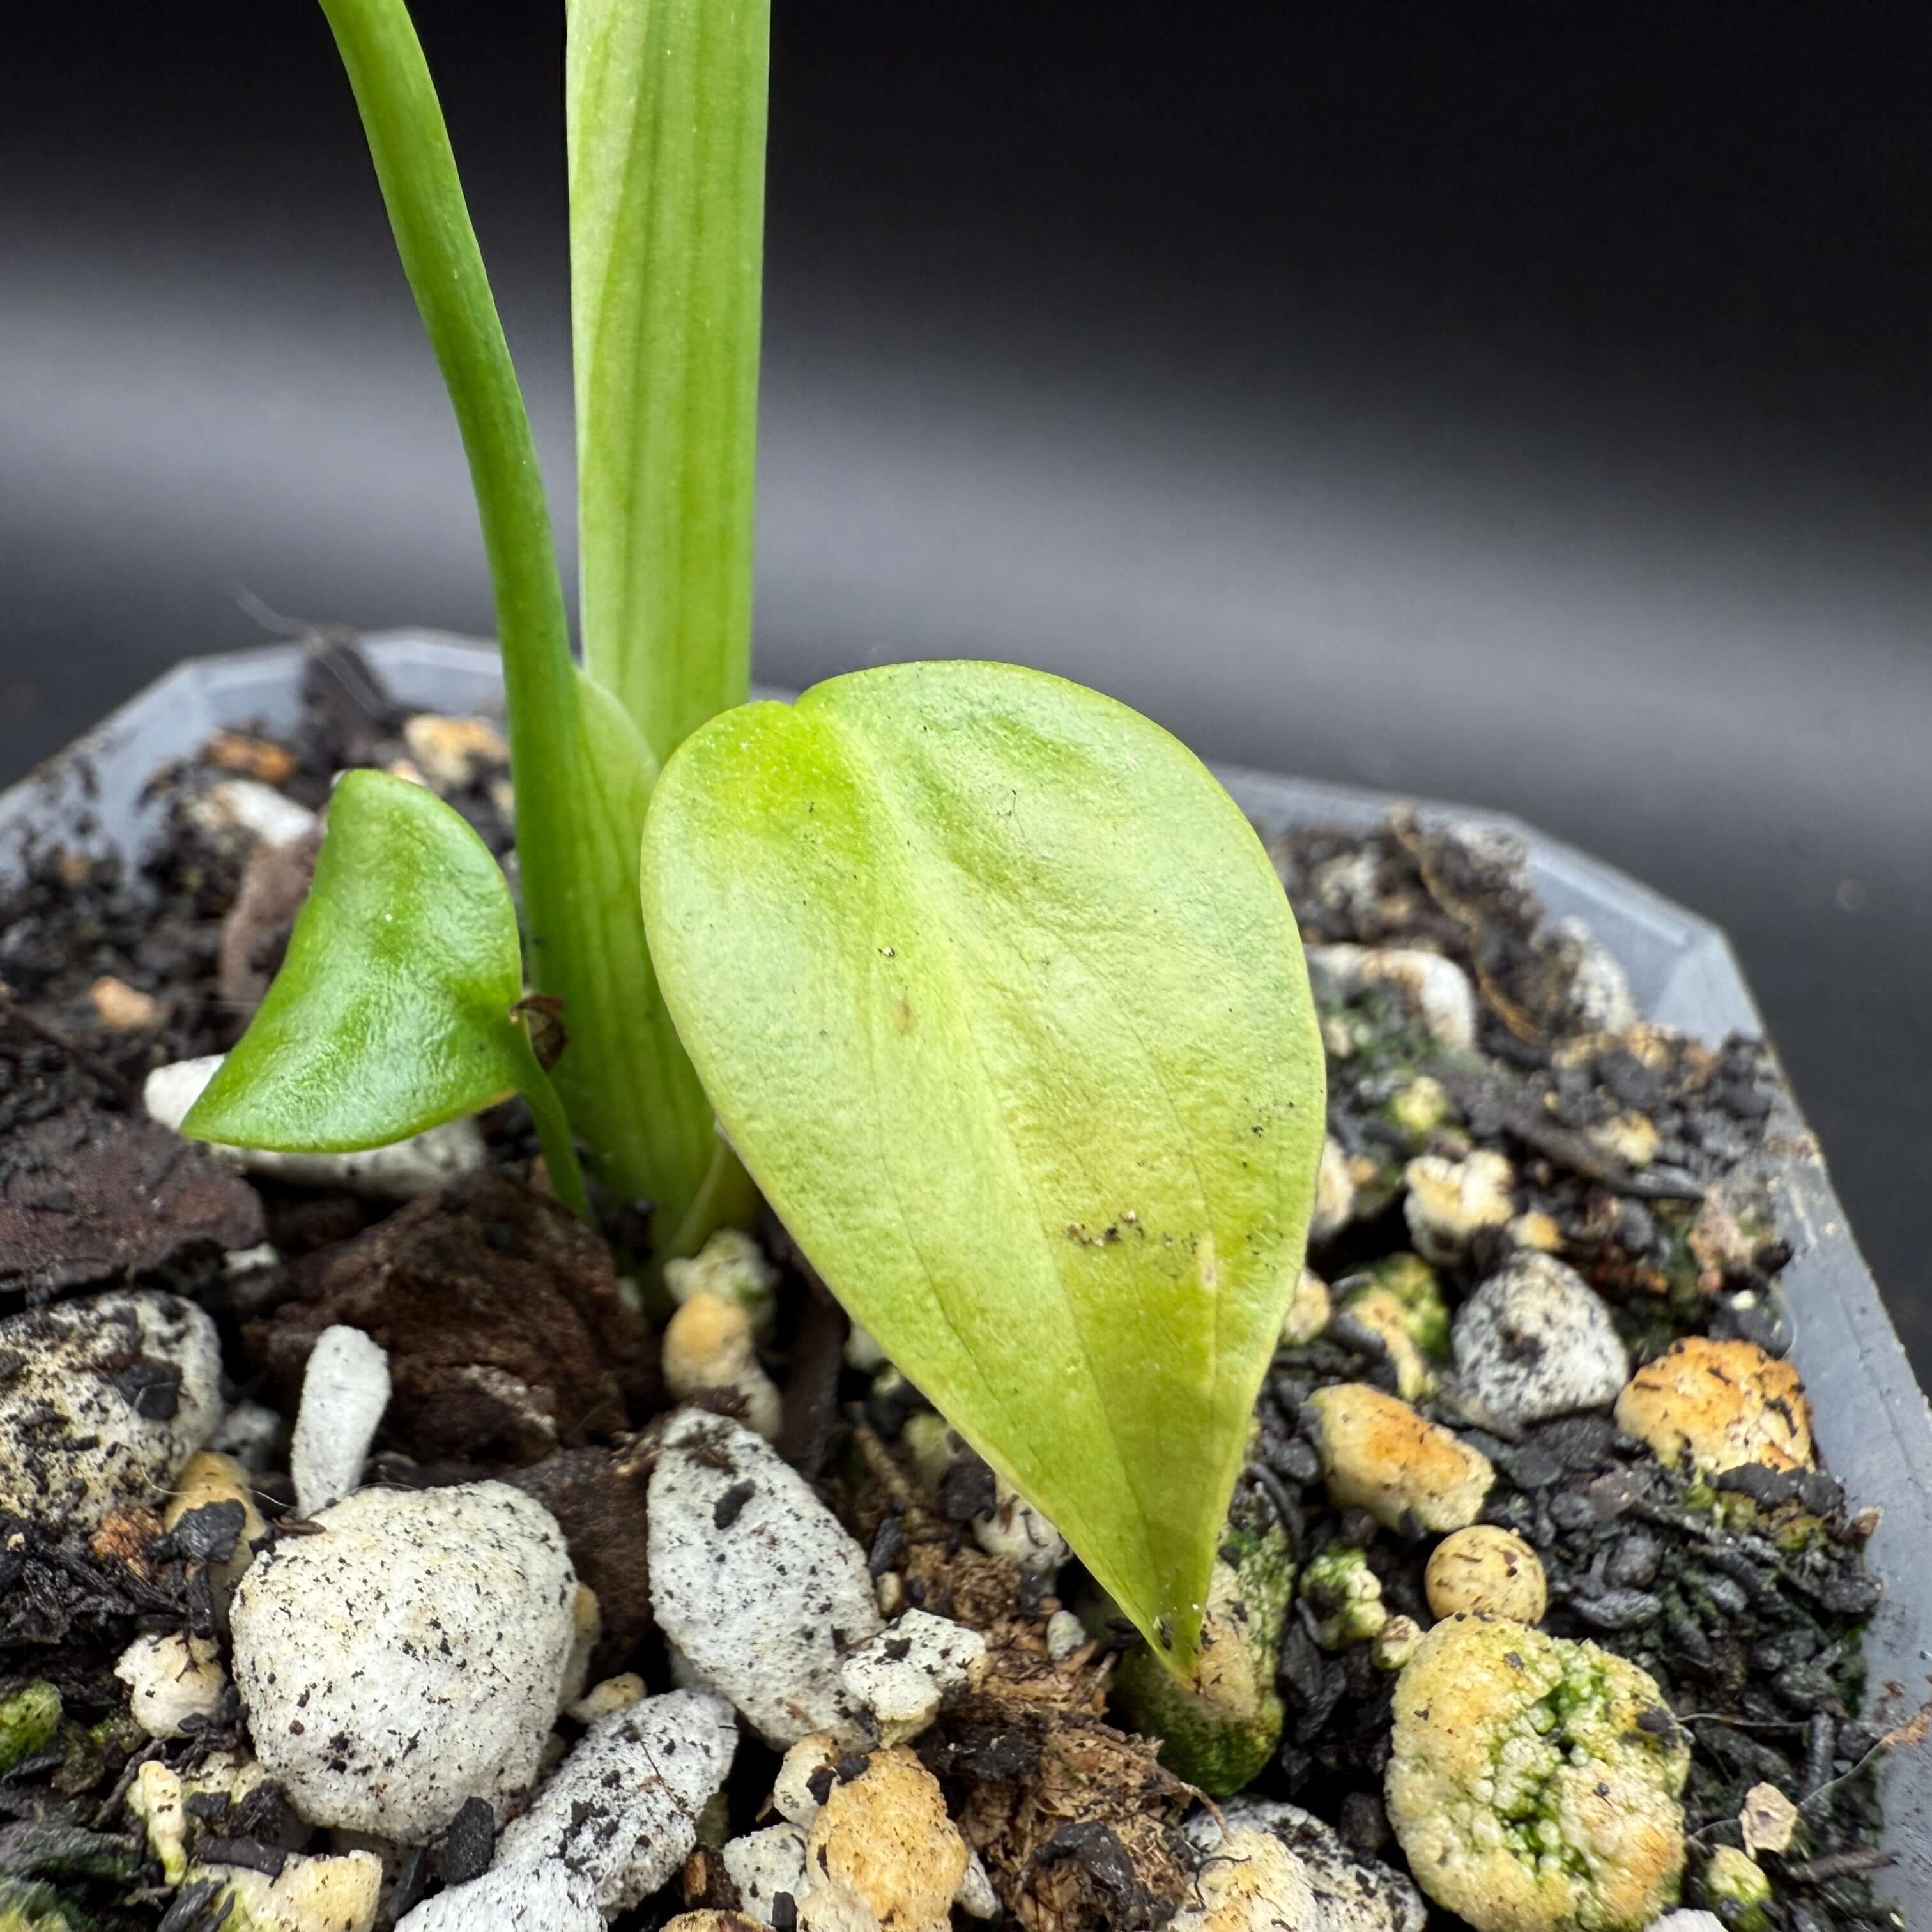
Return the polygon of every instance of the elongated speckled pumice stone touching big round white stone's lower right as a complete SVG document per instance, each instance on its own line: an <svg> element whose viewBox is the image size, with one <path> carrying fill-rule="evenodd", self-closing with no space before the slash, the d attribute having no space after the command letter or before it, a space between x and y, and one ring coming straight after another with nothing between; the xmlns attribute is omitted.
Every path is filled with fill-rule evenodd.
<svg viewBox="0 0 1932 1932"><path fill-rule="evenodd" d="M603 1911L630 1911L684 1864L736 1748L730 1706L703 1690L599 1718L502 1833L493 1870L562 1861Z"/></svg>

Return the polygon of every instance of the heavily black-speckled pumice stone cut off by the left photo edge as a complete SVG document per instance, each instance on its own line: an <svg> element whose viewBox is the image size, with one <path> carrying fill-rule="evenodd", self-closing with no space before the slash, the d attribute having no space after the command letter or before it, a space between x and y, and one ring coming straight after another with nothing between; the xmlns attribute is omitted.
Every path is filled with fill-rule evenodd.
<svg viewBox="0 0 1932 1932"><path fill-rule="evenodd" d="M214 1323L178 1294L87 1294L0 1321L0 1515L46 1532L160 1503L222 1414Z"/></svg>

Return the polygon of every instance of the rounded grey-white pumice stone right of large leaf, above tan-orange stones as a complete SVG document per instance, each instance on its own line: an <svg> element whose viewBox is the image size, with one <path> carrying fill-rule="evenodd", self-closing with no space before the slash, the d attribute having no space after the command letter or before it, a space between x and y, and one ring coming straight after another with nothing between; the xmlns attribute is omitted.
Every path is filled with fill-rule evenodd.
<svg viewBox="0 0 1932 1932"><path fill-rule="evenodd" d="M1457 1387L1492 1422L1522 1430L1609 1408L1631 1356L1600 1294L1553 1254L1524 1250L1457 1310Z"/></svg>

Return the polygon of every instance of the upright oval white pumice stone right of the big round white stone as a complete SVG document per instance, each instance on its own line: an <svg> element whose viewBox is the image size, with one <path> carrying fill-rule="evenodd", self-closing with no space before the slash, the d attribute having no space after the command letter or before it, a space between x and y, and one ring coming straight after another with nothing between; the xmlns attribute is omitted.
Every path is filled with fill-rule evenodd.
<svg viewBox="0 0 1932 1932"><path fill-rule="evenodd" d="M879 1629L866 1551L752 1430L688 1408L649 1490L651 1605L705 1683L777 1748L866 1743L840 1663Z"/></svg>

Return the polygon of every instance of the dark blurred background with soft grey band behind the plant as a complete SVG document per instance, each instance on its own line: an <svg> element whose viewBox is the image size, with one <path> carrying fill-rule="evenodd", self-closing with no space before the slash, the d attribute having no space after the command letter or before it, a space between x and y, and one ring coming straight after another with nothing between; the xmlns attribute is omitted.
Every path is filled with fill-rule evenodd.
<svg viewBox="0 0 1932 1932"><path fill-rule="evenodd" d="M1907 6L777 0L759 672L1047 665L1735 935L1932 1366ZM556 0L419 0L568 537ZM307 0L0 21L0 779L234 587L483 632Z"/></svg>

